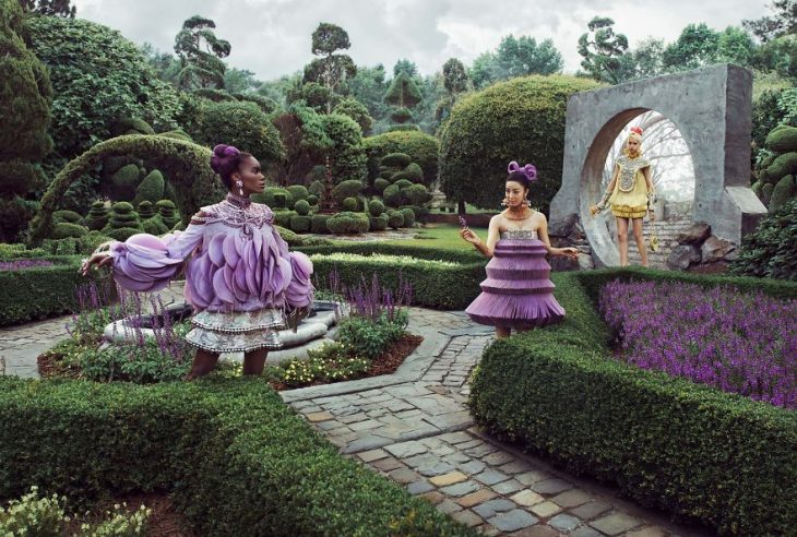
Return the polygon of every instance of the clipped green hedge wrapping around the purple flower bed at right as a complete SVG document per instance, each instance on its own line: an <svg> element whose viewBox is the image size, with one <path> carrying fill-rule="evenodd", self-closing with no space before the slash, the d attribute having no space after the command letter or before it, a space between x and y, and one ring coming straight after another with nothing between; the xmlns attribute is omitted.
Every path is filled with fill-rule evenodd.
<svg viewBox="0 0 797 537"><path fill-rule="evenodd" d="M566 321L485 351L469 401L476 420L721 534L793 532L797 413L610 359L593 300L618 276L797 293L794 284L654 271L555 274Z"/></svg>

